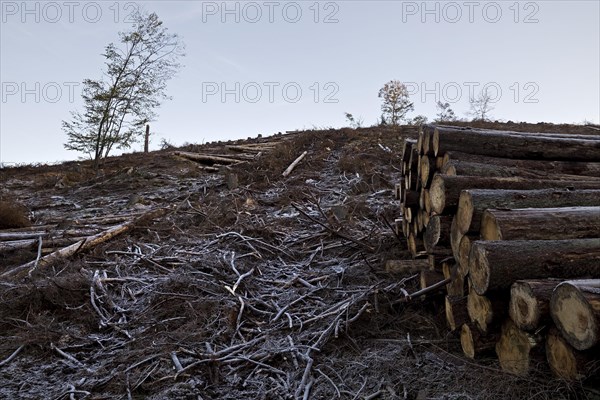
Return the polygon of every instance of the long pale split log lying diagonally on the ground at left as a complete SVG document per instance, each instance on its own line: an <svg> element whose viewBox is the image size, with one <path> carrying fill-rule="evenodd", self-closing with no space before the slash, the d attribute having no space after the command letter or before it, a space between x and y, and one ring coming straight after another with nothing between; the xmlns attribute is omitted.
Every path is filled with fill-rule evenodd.
<svg viewBox="0 0 600 400"><path fill-rule="evenodd" d="M100 232L94 236L87 237L84 240L80 240L77 243L74 243L70 246L64 247L60 250L50 253L47 256L40 258L37 261L37 266L36 266L36 261L31 261L27 264L23 264L16 268L5 271L4 273L0 274L0 278L4 278L4 279L20 278L20 277L27 275L29 270L34 268L34 266L36 266L36 268L38 270L52 266L55 263L59 262L60 260L70 257L80 251L89 250L101 243L104 243L104 242L112 239L113 237L115 237L117 235L120 235L122 233L130 231L133 228L135 228L136 225L138 225L142 222L146 222L146 221L150 221L150 220L159 218L159 217L163 216L164 214L166 214L167 211L168 211L167 208L160 208L157 210L149 211L131 221L125 222L121 225L117 225L106 231Z"/></svg>

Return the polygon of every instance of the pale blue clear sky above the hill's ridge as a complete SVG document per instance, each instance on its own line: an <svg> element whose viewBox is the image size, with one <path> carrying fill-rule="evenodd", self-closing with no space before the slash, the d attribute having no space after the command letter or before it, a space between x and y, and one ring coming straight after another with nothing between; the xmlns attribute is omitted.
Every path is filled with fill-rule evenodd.
<svg viewBox="0 0 600 400"><path fill-rule="evenodd" d="M339 128L346 112L370 126L390 80L409 89L408 117L432 120L442 101L468 118L487 88L495 120L600 122L598 0L0 0L0 164L85 157L64 148L61 121L136 10L186 46L151 149Z"/></svg>

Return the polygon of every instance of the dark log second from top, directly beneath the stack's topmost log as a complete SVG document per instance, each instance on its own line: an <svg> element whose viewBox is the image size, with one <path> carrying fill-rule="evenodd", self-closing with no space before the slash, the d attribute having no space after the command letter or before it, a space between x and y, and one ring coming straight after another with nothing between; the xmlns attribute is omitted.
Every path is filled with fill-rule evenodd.
<svg viewBox="0 0 600 400"><path fill-rule="evenodd" d="M443 170L447 165L456 162L517 168L520 170L536 171L538 173L579 175L600 178L600 162L515 160L511 158L487 157L458 151L446 152L443 156L442 165L439 169ZM451 171L450 166L446 168L450 168ZM457 173L458 172L459 171L457 171ZM458 173L458 175L461 175L461 173Z"/></svg>

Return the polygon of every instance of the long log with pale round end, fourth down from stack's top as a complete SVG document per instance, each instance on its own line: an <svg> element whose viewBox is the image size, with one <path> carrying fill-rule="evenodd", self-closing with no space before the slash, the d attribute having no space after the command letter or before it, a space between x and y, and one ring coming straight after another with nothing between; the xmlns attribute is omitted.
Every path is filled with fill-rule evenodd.
<svg viewBox="0 0 600 400"><path fill-rule="evenodd" d="M431 212L450 214L457 209L460 194L468 189L600 189L600 180L571 181L436 174L431 181Z"/></svg>

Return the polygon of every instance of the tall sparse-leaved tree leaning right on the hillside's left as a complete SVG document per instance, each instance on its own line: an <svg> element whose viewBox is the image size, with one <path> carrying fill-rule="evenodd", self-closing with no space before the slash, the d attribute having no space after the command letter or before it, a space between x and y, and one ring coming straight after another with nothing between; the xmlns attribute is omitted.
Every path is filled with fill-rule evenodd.
<svg viewBox="0 0 600 400"><path fill-rule="evenodd" d="M156 14L137 13L134 20L131 31L119 33L121 48L106 46L104 76L84 80L84 112L62 122L65 148L89 154L96 168L113 147L128 148L144 135L154 109L169 98L166 82L181 66L183 45Z"/></svg>

